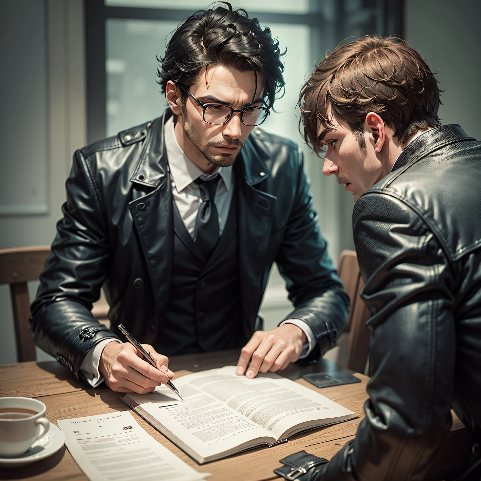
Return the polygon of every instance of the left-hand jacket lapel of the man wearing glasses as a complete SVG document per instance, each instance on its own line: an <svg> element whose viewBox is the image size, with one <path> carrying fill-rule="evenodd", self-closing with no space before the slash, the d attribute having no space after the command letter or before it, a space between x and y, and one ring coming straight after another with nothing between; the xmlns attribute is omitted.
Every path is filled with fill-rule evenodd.
<svg viewBox="0 0 481 481"><path fill-rule="evenodd" d="M169 112L170 109L154 121L139 164L130 179L142 186L154 187L146 195L131 201L129 209L152 282L157 322L164 317L167 308L172 273L172 191L164 142L164 125L170 117Z"/></svg>

